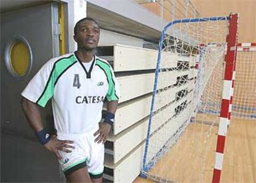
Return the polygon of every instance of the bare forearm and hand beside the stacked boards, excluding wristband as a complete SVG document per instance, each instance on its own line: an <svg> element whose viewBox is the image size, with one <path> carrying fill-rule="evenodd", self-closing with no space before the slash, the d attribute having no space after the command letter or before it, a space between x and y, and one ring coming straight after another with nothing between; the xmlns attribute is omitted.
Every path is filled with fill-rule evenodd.
<svg viewBox="0 0 256 183"><path fill-rule="evenodd" d="M117 105L118 105L117 100L108 101L106 113L111 113L114 115L116 113ZM99 126L100 126L100 129L98 129L94 134L94 136L98 135L98 137L95 139L95 142L105 143L108 138L108 134L111 130L111 124L109 124L108 122L101 122Z"/></svg>

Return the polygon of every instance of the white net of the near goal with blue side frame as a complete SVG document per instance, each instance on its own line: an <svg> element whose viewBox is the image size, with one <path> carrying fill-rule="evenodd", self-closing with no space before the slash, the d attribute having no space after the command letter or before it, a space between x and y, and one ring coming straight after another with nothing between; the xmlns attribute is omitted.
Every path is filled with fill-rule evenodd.
<svg viewBox="0 0 256 183"><path fill-rule="evenodd" d="M143 160L142 173L149 179L211 181L227 34L224 18L166 30Z"/></svg>

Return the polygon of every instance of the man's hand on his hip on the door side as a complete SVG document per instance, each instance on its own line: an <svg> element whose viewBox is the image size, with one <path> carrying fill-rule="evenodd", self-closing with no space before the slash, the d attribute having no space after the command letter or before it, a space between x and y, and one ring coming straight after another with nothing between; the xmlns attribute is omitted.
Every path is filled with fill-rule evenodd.
<svg viewBox="0 0 256 183"><path fill-rule="evenodd" d="M71 150L68 150L67 148L73 148L75 147L69 145L68 143L74 143L71 140L59 140L56 135L53 135L51 137L51 140L49 140L48 143L46 143L44 146L47 148L49 151L53 152L59 160L62 159L61 155L59 155L59 150L64 151L66 153L71 153Z"/></svg>

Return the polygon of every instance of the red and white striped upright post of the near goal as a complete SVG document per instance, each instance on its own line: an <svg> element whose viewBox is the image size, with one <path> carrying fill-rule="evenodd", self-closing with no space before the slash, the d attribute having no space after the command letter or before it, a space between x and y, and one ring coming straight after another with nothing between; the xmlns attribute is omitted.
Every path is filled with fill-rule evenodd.
<svg viewBox="0 0 256 183"><path fill-rule="evenodd" d="M238 15L231 15L229 20L229 35L226 38L227 49L225 56L223 97L221 100L220 123L216 144L215 168L213 171L213 182L220 182L221 169L223 166L224 147L228 124L231 118L232 99L234 93L234 79L236 69L237 53L237 24Z"/></svg>

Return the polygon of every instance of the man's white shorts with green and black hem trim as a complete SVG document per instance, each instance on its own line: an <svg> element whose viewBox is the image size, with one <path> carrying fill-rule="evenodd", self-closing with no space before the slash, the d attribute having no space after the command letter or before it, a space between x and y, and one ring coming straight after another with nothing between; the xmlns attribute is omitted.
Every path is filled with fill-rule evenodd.
<svg viewBox="0 0 256 183"><path fill-rule="evenodd" d="M104 144L96 143L93 134L98 130L98 125L90 132L82 134L62 134L58 133L59 140L72 140L70 144L75 147L71 153L59 151L62 159L59 160L62 171L68 176L74 171L87 166L88 173L92 179L103 176L104 170Z"/></svg>

